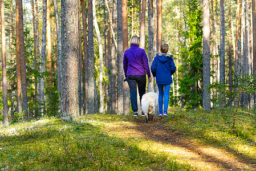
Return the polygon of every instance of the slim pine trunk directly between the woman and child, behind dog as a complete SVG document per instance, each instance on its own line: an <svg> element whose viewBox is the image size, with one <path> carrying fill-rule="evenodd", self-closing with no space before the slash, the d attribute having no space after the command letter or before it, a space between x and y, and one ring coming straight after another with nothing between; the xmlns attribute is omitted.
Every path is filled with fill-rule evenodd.
<svg viewBox="0 0 256 171"><path fill-rule="evenodd" d="M151 66L154 58L154 7L153 0L148 1L148 64ZM151 74L152 81L148 83L148 92L154 91L153 76Z"/></svg>

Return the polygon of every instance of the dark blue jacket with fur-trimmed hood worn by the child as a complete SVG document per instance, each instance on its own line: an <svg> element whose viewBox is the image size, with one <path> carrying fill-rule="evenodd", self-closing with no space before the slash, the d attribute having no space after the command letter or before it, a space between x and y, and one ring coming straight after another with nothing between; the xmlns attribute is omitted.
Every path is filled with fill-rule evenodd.
<svg viewBox="0 0 256 171"><path fill-rule="evenodd" d="M151 72L156 77L157 84L172 84L172 75L176 71L173 55L157 53L151 66Z"/></svg>

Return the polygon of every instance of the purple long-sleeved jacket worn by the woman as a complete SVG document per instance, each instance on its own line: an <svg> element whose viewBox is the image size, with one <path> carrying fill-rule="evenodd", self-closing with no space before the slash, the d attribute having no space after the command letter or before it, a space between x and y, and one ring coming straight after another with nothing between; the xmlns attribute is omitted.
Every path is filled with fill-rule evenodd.
<svg viewBox="0 0 256 171"><path fill-rule="evenodd" d="M148 78L151 77L147 54L136 44L131 44L131 47L124 52L123 64L125 78L127 75L145 75L146 72Z"/></svg>

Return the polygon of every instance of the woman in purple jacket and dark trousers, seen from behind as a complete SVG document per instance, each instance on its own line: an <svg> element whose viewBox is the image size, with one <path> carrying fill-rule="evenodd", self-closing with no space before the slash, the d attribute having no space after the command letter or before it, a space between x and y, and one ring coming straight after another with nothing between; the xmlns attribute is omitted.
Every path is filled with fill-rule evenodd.
<svg viewBox="0 0 256 171"><path fill-rule="evenodd" d="M146 52L143 48L139 48L140 38L138 36L132 36L130 44L131 47L124 52L124 75L130 89L133 116L138 116L137 86L141 103L141 98L146 93L146 72L149 83L151 82L151 74Z"/></svg>

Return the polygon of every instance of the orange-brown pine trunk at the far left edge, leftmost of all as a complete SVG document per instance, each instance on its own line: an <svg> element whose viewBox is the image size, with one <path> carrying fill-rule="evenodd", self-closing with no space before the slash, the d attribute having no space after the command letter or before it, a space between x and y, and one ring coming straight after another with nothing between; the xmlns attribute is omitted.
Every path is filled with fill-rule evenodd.
<svg viewBox="0 0 256 171"><path fill-rule="evenodd" d="M7 78L6 78L6 40L5 40L5 3L1 0L1 48L2 48L2 83L3 83L3 125L9 125L8 101L7 101Z"/></svg>

